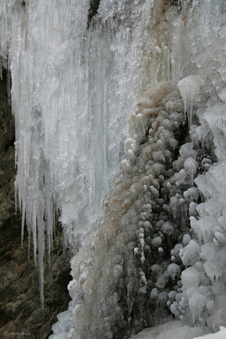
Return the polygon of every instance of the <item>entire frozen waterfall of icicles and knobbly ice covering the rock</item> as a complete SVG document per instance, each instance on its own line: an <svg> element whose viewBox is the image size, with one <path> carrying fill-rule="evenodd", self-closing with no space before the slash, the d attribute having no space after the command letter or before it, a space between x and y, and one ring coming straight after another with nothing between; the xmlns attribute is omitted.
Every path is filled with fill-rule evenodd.
<svg viewBox="0 0 226 339"><path fill-rule="evenodd" d="M78 251L52 338L223 335L225 17L224 0L0 3L42 303L59 213Z"/></svg>

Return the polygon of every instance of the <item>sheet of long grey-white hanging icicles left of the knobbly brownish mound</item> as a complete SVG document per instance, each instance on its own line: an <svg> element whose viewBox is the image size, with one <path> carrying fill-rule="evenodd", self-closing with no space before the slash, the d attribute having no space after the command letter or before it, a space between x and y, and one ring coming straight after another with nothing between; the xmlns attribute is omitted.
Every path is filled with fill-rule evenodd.
<svg viewBox="0 0 226 339"><path fill-rule="evenodd" d="M39 247L41 285L55 210L64 247L76 249L119 169L136 98L169 77L168 49L150 34L164 22L166 5L160 2L153 20L153 4L101 2L88 30L88 0L0 4L1 58L11 70L16 125L15 197L35 261ZM160 58L157 65L150 54Z"/></svg>

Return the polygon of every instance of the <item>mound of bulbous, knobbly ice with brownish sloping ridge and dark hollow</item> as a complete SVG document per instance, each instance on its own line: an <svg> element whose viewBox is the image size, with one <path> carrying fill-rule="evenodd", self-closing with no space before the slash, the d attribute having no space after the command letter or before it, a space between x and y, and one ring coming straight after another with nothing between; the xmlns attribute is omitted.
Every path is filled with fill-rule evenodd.
<svg viewBox="0 0 226 339"><path fill-rule="evenodd" d="M171 82L144 93L130 125L122 172L71 260L61 338L129 338L172 316L191 337L224 323L225 219L197 187L217 167L212 132L188 134Z"/></svg>

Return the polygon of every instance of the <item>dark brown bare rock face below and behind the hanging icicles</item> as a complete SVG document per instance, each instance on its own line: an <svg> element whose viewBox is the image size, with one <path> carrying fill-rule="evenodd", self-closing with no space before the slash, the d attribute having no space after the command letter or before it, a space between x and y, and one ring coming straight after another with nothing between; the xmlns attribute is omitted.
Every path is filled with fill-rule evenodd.
<svg viewBox="0 0 226 339"><path fill-rule="evenodd" d="M69 257L63 255L60 227L56 230L51 269L45 263L45 305L41 309L39 273L32 247L28 261L25 232L21 248L21 216L14 209L14 119L6 90L6 72L0 82L0 337L4 332L29 332L29 338L46 338L56 314L67 309ZM22 336L16 336L22 337Z"/></svg>

